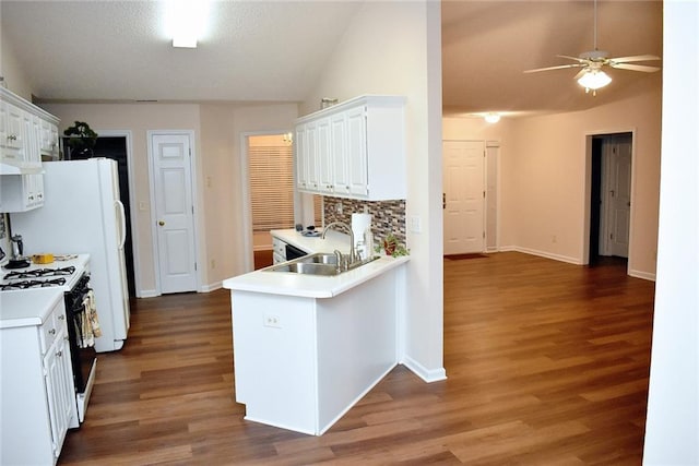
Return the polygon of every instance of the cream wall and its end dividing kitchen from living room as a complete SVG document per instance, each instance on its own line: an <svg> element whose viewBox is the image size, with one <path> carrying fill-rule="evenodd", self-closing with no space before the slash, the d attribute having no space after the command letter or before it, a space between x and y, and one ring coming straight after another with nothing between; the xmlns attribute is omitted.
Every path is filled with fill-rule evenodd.
<svg viewBox="0 0 699 466"><path fill-rule="evenodd" d="M422 220L407 232L405 363L426 380L442 367L440 4L434 1L367 2L350 24L301 113L322 97L346 100L362 94L407 97L406 213ZM410 228L408 228L410 229Z"/></svg>

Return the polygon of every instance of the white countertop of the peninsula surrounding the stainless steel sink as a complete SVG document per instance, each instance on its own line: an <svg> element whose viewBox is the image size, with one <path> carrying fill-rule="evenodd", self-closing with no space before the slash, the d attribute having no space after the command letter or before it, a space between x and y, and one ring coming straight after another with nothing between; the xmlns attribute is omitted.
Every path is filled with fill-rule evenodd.
<svg viewBox="0 0 699 466"><path fill-rule="evenodd" d="M350 235L329 230L325 239L304 237L289 230L272 230L272 236L306 252L333 252L350 249ZM270 295L297 296L303 298L332 298L364 282L395 268L410 260L408 256L380 259L353 271L334 276L304 275L292 272L270 272L266 268L250 272L223 282L223 287L239 291L264 292Z"/></svg>

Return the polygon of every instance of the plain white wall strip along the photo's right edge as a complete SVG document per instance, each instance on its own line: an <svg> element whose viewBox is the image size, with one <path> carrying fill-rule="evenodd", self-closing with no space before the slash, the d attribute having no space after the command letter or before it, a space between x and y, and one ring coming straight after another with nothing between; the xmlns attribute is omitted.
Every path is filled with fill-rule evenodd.
<svg viewBox="0 0 699 466"><path fill-rule="evenodd" d="M699 3L666 1L657 280L643 464L699 464Z"/></svg>

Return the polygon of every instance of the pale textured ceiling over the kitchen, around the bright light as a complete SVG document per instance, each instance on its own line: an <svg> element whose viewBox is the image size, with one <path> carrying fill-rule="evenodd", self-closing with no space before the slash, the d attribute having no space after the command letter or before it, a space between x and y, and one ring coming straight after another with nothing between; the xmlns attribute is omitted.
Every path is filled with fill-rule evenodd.
<svg viewBox="0 0 699 466"><path fill-rule="evenodd" d="M303 100L355 2L217 1L197 49L163 2L2 1L2 27L42 99Z"/></svg>

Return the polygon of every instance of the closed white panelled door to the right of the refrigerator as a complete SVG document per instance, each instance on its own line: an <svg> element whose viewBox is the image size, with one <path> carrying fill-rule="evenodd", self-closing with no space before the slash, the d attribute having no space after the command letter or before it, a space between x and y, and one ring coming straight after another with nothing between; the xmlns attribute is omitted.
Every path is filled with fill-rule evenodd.
<svg viewBox="0 0 699 466"><path fill-rule="evenodd" d="M151 134L161 292L197 290L189 134Z"/></svg>

